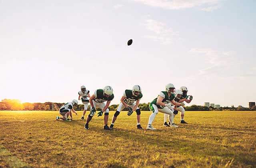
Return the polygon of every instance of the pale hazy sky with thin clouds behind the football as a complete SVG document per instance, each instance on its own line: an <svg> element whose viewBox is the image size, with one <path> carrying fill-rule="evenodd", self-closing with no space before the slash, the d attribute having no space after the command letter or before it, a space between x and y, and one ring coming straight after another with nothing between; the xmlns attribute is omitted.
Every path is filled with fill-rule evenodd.
<svg viewBox="0 0 256 168"><path fill-rule="evenodd" d="M190 103L256 101L255 0L0 0L0 100L68 102L80 86L168 83ZM127 46L127 41L133 44Z"/></svg>

